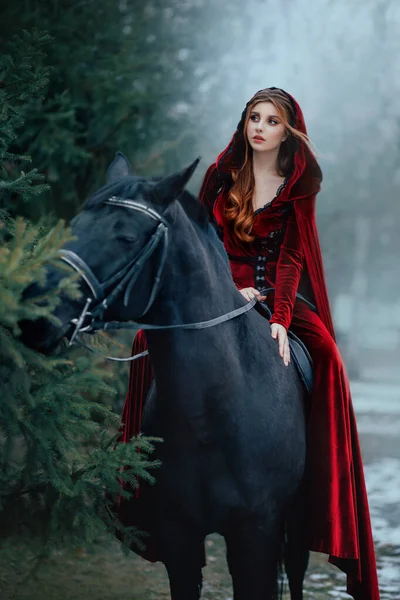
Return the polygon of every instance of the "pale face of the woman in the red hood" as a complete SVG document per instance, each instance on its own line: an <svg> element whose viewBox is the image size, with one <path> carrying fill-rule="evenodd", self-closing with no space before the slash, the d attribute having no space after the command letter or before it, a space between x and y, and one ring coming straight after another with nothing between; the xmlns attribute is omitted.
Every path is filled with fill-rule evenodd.
<svg viewBox="0 0 400 600"><path fill-rule="evenodd" d="M258 102L251 109L247 139L255 152L277 150L286 137L285 126L272 102Z"/></svg>

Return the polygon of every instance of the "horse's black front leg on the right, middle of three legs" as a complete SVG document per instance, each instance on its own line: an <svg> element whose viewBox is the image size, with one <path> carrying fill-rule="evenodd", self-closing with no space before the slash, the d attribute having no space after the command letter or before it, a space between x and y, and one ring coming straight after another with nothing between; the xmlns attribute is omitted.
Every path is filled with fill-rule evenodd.
<svg viewBox="0 0 400 600"><path fill-rule="evenodd" d="M280 558L279 522L243 520L224 535L234 600L272 600Z"/></svg>

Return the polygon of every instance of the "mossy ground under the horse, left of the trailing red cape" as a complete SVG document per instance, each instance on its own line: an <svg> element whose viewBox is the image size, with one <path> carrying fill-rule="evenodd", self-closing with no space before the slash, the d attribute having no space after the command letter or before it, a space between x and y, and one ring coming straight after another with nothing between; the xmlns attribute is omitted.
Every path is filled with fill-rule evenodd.
<svg viewBox="0 0 400 600"><path fill-rule="evenodd" d="M165 569L130 553L125 556L117 542L99 545L90 552L62 551L54 554L37 576L24 581L31 552L13 544L0 550L0 597L2 600L168 600ZM232 587L225 561L222 538L207 539L207 567L204 569L202 600L232 599ZM306 598L326 600L340 594L344 579L325 557L313 556L307 577ZM336 592L335 592L336 590ZM288 597L288 596L286 596ZM332 596L331 596L332 597Z"/></svg>

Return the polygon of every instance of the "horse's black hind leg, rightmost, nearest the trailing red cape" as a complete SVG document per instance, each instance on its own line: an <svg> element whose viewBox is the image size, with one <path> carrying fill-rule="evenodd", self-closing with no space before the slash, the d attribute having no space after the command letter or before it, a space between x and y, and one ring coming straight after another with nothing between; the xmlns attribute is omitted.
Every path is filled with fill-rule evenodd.
<svg viewBox="0 0 400 600"><path fill-rule="evenodd" d="M303 504L299 497L286 521L284 562L291 600L303 600L303 582L310 558L310 552L305 542L306 522Z"/></svg>

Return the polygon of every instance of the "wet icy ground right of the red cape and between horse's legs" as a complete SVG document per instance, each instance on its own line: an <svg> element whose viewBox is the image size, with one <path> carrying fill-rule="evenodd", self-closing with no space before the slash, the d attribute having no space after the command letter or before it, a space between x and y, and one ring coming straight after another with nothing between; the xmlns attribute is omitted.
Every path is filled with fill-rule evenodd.
<svg viewBox="0 0 400 600"><path fill-rule="evenodd" d="M352 393L376 543L381 599L399 600L400 381L393 384L354 382ZM207 561L202 598L232 600L224 543L219 536L208 538ZM135 564L148 574L150 586L154 577L165 576L159 571L156 573L154 566L146 565L141 559L135 559ZM344 574L330 565L327 557L321 554L311 557L304 589L307 599L350 598L345 592ZM168 594L165 597L168 598ZM286 598L289 598L288 594Z"/></svg>

